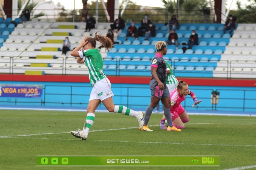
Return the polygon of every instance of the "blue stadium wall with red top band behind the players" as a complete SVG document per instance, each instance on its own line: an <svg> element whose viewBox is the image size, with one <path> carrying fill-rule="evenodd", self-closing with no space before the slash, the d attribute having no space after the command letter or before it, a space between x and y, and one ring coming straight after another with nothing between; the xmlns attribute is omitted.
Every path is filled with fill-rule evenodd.
<svg viewBox="0 0 256 170"><path fill-rule="evenodd" d="M115 94L114 103L134 109L145 110L150 103L150 77L108 77ZM191 107L193 100L183 102L183 107L191 111L222 110L255 112L256 87L253 80L226 80L178 78L188 83L199 100L204 100L197 107ZM9 98L0 97L0 105L4 106L57 106L86 107L92 86L88 76L27 76L1 75L0 84L43 85L41 98ZM72 86L72 87L71 87ZM217 105L211 103L212 91L220 92ZM72 94L72 95L71 95ZM103 105L100 105L103 107ZM161 109L160 105L160 109Z"/></svg>

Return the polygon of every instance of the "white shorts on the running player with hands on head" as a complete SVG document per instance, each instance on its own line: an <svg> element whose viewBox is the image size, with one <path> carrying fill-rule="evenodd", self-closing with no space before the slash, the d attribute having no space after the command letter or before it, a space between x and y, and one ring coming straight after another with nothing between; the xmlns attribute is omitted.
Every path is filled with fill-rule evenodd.
<svg viewBox="0 0 256 170"><path fill-rule="evenodd" d="M111 83L108 78L103 78L93 84L89 101L94 99L100 99L100 101L103 101L112 96L114 96L114 94L111 91Z"/></svg>

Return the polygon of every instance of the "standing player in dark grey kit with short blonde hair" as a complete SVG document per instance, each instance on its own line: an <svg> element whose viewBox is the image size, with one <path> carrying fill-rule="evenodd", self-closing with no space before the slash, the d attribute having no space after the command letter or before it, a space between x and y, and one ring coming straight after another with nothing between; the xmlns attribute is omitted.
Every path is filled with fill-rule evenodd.
<svg viewBox="0 0 256 170"><path fill-rule="evenodd" d="M151 101L145 113L144 126L140 130L153 131L148 128L148 121L153 109L161 100L164 104L164 115L168 122L167 131L181 131L180 129L172 126L172 117L170 114L170 93L166 86L166 63L164 62L163 55L166 55L167 47L164 41L158 41L155 46L157 53L151 61L151 74L149 86L151 90Z"/></svg>

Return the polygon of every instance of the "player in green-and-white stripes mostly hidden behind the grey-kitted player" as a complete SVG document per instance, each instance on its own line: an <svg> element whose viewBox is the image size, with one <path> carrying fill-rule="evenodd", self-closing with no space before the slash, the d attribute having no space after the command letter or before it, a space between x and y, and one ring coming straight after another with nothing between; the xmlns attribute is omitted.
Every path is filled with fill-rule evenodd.
<svg viewBox="0 0 256 170"><path fill-rule="evenodd" d="M165 61L165 63L166 63L166 72L167 72L166 85L168 87L169 92L171 93L174 89L177 88L177 85L179 82L173 74L171 65L167 61Z"/></svg>

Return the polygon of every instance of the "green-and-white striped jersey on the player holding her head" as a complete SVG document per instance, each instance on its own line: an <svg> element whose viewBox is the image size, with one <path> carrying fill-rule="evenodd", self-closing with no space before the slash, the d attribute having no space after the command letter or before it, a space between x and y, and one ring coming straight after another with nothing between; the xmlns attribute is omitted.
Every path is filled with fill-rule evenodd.
<svg viewBox="0 0 256 170"><path fill-rule="evenodd" d="M83 55L84 64L89 69L89 79L91 85L107 77L103 72L103 60L98 48L84 50Z"/></svg>

